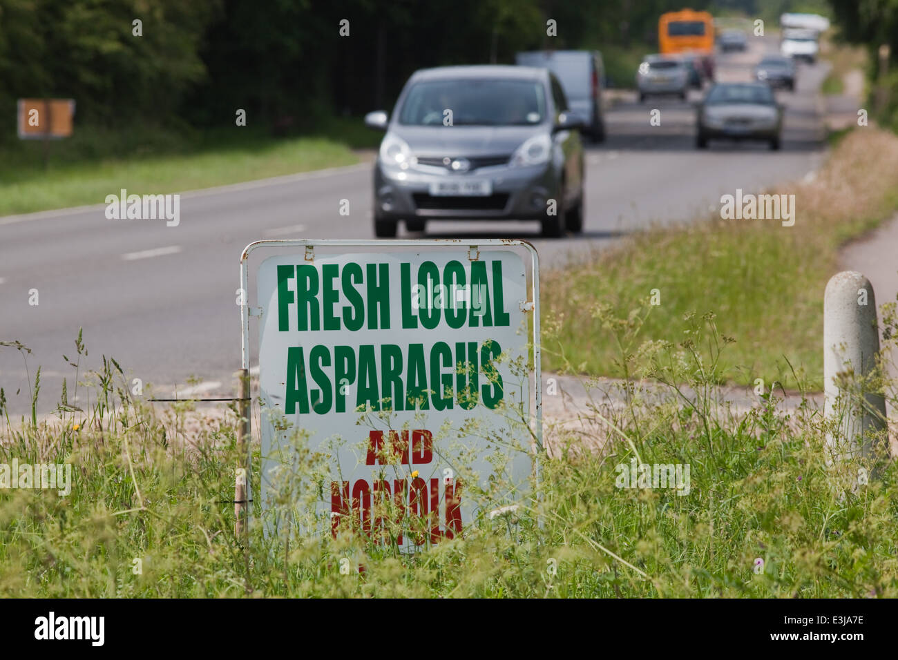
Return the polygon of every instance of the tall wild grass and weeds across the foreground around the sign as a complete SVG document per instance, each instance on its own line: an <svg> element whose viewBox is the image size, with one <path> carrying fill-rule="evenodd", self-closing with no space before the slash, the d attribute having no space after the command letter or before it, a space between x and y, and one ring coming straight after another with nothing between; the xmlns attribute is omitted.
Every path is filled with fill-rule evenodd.
<svg viewBox="0 0 898 660"><path fill-rule="evenodd" d="M631 378L627 404L589 413L603 435L597 449L556 430L523 506L480 515L463 538L426 542L411 554L357 525L336 539L266 534L272 516L328 496L309 488L269 512L254 502L249 537L236 539L234 411L151 409L105 359L101 371L82 374L92 409L60 405L57 418L37 424L4 411L0 463L70 462L75 484L69 497L0 489L0 595L898 595L894 463L880 455L830 466L823 438L832 427L810 406L782 413L772 394L735 415L714 383L737 344L720 336L713 315L681 322L685 339L672 344L643 340L635 320L644 313L597 317L621 347L632 347L620 358ZM550 328L544 348L558 354L560 340ZM74 372L78 357L70 364ZM669 396L647 398L643 377L670 383ZM694 393L683 397L680 383ZM287 480L321 478L327 457L309 451L302 434L295 447ZM254 465L259 458L257 445ZM618 488L616 466L634 458L691 465L688 495ZM869 480L858 480L860 468ZM252 490L259 492L258 470ZM289 483L282 492L291 492Z"/></svg>

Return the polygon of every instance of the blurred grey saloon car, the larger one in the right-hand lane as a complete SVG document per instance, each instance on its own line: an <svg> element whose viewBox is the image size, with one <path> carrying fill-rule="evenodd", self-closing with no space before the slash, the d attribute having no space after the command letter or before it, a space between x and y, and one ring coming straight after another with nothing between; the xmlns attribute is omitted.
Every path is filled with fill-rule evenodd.
<svg viewBox="0 0 898 660"><path fill-rule="evenodd" d="M764 83L718 83L698 108L696 146L715 138L764 140L779 149L782 106Z"/></svg>

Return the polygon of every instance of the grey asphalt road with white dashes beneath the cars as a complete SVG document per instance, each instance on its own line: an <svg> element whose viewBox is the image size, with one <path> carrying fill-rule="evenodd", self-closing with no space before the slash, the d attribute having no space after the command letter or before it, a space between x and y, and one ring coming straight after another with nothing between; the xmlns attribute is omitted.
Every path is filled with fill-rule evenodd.
<svg viewBox="0 0 898 660"><path fill-rule="evenodd" d="M718 79L747 80L762 50L775 40L753 40L747 53L718 55ZM764 144L694 145L691 102L635 97L607 114L608 140L586 156L585 232L542 240L535 223L440 222L428 237L514 237L533 240L545 268L571 254L601 247L621 233L652 223L674 223L718 212L720 196L800 180L823 155L824 66L801 66L796 92L779 92L787 105L782 149ZM700 92L691 92L691 100ZM661 110L661 126L649 124ZM96 368L114 356L133 377L155 383L160 396L194 375L193 392L233 392L240 365L240 315L235 304L243 247L265 238L374 238L371 165L313 172L278 180L182 194L180 224L108 220L105 206L0 218L0 341L31 348L33 379L42 366L39 409L56 407L62 378L73 392L74 370L62 359L75 353L84 328ZM339 215L339 200L350 215ZM419 237L420 234L400 236ZM251 290L253 285L251 283ZM29 304L37 289L39 304ZM84 366L82 368L84 373ZM0 347L0 387L14 414L30 409L22 356ZM15 392L21 389L16 396ZM72 397L70 397L70 402ZM77 401L84 406L83 397Z"/></svg>

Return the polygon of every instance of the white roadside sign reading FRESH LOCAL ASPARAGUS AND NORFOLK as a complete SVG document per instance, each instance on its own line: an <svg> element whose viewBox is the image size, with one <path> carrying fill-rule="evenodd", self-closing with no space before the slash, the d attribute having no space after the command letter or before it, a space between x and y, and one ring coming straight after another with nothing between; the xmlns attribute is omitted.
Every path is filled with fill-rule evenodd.
<svg viewBox="0 0 898 660"><path fill-rule="evenodd" d="M521 502L541 443L538 260L526 242L469 243L244 251L246 290L252 250L292 249L262 261L259 307L243 305L244 368L260 315L263 509L317 493L303 523L276 527L348 525L375 540L389 528L413 550ZM326 456L329 473L297 488L304 451Z"/></svg>

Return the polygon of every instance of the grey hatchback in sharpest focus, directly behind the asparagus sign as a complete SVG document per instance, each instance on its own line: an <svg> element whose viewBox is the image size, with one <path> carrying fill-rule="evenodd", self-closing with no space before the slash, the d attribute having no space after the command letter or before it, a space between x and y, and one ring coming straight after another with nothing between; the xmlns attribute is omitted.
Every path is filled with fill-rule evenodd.
<svg viewBox="0 0 898 660"><path fill-rule="evenodd" d="M411 75L374 165L374 233L404 221L539 220L542 233L583 229L583 119L558 79L529 66L443 66Z"/></svg>

